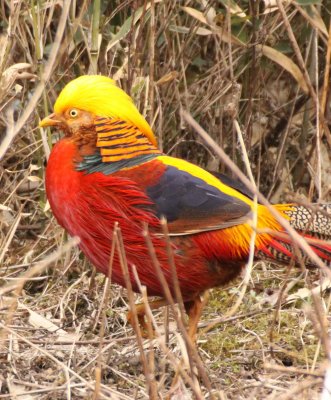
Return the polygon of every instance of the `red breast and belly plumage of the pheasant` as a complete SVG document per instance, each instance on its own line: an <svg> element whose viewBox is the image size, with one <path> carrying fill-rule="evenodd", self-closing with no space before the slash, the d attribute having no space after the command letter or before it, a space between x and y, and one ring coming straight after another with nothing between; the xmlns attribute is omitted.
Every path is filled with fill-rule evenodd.
<svg viewBox="0 0 331 400"><path fill-rule="evenodd" d="M147 223L157 258L169 287L173 288L165 241L161 236L153 235L160 231L159 219L150 211L151 200L144 191L160 180L164 164L156 159L108 175L102 172L87 174L75 169L75 162L79 159L76 144L70 139L61 140L52 150L47 166L46 190L58 222L70 235L80 238L82 251L105 274L113 227L118 222L129 266L136 267L149 295L163 296L142 230L143 223ZM235 228L172 238L177 274L185 300L224 284L240 273L249 249L233 245L233 240L236 240L233 235L239 232L238 227ZM228 240L231 235L232 241ZM257 252L277 258L275 252L282 252L279 246L282 246L281 241L269 237ZM283 249L284 255L289 256L288 248ZM331 246L324 244L322 250L326 251L324 258L330 260ZM133 288L137 290L132 270L130 274ZM112 266L112 281L125 285L117 255Z"/></svg>

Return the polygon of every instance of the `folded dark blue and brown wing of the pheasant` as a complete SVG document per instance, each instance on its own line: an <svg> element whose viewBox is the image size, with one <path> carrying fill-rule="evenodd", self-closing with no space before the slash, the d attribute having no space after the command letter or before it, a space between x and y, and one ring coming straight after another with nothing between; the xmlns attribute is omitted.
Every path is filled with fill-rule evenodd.
<svg viewBox="0 0 331 400"><path fill-rule="evenodd" d="M186 171L167 166L157 184L146 188L170 233L223 229L247 222L251 208Z"/></svg>

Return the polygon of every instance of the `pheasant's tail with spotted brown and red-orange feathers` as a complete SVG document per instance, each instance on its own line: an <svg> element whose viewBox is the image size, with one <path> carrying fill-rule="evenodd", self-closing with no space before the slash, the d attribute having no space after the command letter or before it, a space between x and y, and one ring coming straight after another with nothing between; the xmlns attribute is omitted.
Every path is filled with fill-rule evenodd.
<svg viewBox="0 0 331 400"><path fill-rule="evenodd" d="M331 203L303 205L276 205L282 214L289 218L291 226L302 235L312 250L331 267ZM257 252L260 258L267 258L281 263L304 263L307 267L315 264L307 255L293 244L286 232L275 235L271 242Z"/></svg>

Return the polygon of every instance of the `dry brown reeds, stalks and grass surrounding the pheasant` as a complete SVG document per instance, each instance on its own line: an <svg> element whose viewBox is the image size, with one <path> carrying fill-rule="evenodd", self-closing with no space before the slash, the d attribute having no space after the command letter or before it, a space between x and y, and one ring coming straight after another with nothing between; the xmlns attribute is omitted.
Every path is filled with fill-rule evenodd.
<svg viewBox="0 0 331 400"><path fill-rule="evenodd" d="M108 293L52 217L56 137L37 126L66 82L110 75L165 152L225 171L189 110L244 172L247 151L271 201L330 201L329 27L328 0L0 0L0 399L319 398L331 297L318 271L258 263L235 309L240 281L214 290L199 356L164 310L170 333L137 340L127 291Z"/></svg>

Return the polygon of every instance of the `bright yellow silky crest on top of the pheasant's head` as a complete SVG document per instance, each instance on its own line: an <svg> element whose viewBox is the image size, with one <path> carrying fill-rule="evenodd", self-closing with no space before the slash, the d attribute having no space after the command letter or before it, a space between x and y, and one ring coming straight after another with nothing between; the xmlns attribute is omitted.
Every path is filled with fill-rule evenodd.
<svg viewBox="0 0 331 400"><path fill-rule="evenodd" d="M99 117L119 118L135 125L156 146L156 138L130 96L113 79L101 75L83 75L69 82L57 98L54 111L69 108L88 111Z"/></svg>

